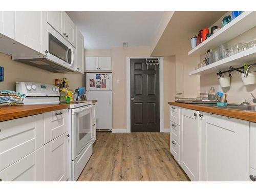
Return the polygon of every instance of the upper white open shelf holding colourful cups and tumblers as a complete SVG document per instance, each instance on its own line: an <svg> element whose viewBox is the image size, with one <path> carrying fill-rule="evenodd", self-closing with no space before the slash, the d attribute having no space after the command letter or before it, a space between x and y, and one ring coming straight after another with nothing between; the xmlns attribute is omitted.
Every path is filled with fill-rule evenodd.
<svg viewBox="0 0 256 192"><path fill-rule="evenodd" d="M205 54L207 50L214 49L255 26L256 11L245 11L215 34L201 42L197 47L189 51L188 55Z"/></svg>

